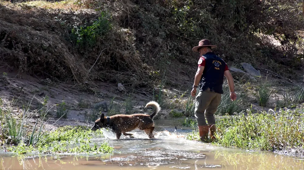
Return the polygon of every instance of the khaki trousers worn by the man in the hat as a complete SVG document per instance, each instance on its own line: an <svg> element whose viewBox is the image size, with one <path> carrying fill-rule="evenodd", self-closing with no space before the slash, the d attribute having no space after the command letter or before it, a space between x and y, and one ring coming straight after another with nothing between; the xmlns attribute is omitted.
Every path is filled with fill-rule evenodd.
<svg viewBox="0 0 304 170"><path fill-rule="evenodd" d="M202 91L196 96L194 116L198 126L215 124L214 113L221 102L222 94ZM206 119L207 123L206 123Z"/></svg>

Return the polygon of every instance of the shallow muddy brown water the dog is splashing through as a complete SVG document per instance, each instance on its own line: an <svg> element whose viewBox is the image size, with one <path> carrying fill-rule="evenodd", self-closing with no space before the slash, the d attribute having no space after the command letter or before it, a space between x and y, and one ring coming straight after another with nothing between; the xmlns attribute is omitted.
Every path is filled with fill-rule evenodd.
<svg viewBox="0 0 304 170"><path fill-rule="evenodd" d="M134 131L134 139L116 140L114 134L104 131L105 137L94 142L109 141L112 155L32 155L1 154L0 170L116 170L116 169L303 169L304 160L277 155L272 152L249 152L226 149L182 138L191 129L175 120L155 120L156 139ZM177 130L175 130L175 126Z"/></svg>

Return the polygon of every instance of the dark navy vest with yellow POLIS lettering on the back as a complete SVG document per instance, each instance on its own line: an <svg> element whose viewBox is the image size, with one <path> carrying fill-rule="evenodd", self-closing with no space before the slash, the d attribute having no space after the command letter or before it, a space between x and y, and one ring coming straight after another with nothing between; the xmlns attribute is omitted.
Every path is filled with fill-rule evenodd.
<svg viewBox="0 0 304 170"><path fill-rule="evenodd" d="M210 91L223 94L224 71L226 63L212 52L202 55L205 68L200 80L199 91Z"/></svg>

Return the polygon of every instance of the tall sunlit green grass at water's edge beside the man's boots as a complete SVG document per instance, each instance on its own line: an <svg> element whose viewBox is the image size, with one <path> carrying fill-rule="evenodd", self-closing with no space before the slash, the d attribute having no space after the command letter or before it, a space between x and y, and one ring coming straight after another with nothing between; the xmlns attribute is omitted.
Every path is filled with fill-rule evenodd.
<svg viewBox="0 0 304 170"><path fill-rule="evenodd" d="M248 116L242 113L219 119L216 123L215 143L225 147L252 150L303 147L304 114L300 110L281 109L279 114L252 114L247 110ZM192 133L187 139L198 138L198 132Z"/></svg>

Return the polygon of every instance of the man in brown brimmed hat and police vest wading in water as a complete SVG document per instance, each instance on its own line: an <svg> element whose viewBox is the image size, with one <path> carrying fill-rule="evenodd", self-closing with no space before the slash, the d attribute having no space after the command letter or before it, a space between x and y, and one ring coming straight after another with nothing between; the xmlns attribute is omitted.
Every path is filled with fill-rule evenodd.
<svg viewBox="0 0 304 170"><path fill-rule="evenodd" d="M199 46L193 47L193 51L199 52L199 68L195 74L194 85L191 95L195 96L197 87L199 93L195 102L195 118L199 127L201 141L207 142L208 131L210 139L214 140L216 132L214 113L219 106L223 94L224 76L228 80L230 99L236 100L234 93L233 78L227 64L223 59L212 52L216 46L211 45L209 40L199 41ZM208 124L206 123L206 119Z"/></svg>

